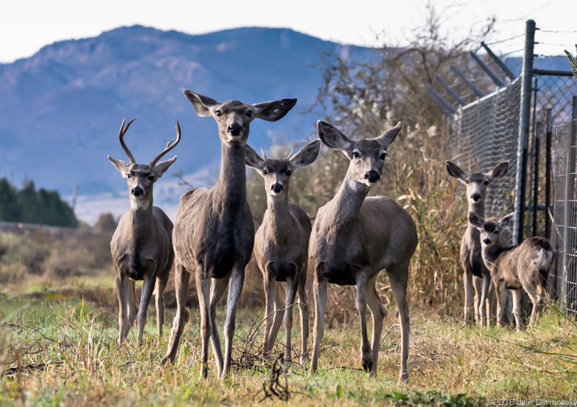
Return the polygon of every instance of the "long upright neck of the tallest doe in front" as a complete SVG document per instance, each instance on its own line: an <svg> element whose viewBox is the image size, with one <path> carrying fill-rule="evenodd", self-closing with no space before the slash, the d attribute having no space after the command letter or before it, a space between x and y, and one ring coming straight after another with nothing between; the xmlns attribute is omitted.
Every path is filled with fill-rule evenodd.
<svg viewBox="0 0 577 407"><path fill-rule="evenodd" d="M222 161L214 196L217 205L226 211L244 208L241 206L246 202L244 144L222 144Z"/></svg>

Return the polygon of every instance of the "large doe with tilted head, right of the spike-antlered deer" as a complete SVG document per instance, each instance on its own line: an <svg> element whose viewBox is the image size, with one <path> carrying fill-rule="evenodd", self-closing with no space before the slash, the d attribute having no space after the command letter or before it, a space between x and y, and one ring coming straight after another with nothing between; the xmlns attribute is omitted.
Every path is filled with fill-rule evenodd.
<svg viewBox="0 0 577 407"><path fill-rule="evenodd" d="M323 338L327 282L356 285L356 309L360 319L360 356L365 371L377 374L380 336L388 310L381 302L375 282L386 270L397 303L401 327L399 384L408 380L409 307L407 281L412 254L417 248L417 227L410 214L393 199L367 197L383 172L387 149L402 128L399 122L380 137L351 140L340 130L318 121L323 144L341 150L350 163L340 189L319 208L311 233L308 261L314 270L315 324L311 371L318 368ZM367 337L366 308L373 315L373 340Z"/></svg>

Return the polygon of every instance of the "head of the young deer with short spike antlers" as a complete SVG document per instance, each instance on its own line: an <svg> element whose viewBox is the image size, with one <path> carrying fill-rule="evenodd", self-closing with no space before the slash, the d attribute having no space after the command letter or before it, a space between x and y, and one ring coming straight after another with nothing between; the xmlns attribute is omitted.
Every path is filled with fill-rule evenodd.
<svg viewBox="0 0 577 407"><path fill-rule="evenodd" d="M262 159L248 144L245 147L244 162L257 171L264 178L266 194L277 196L288 192L288 181L294 171L303 166L313 164L321 150L321 140L316 139L306 144L301 151L293 155L288 154L284 159L269 159L261 147Z"/></svg>

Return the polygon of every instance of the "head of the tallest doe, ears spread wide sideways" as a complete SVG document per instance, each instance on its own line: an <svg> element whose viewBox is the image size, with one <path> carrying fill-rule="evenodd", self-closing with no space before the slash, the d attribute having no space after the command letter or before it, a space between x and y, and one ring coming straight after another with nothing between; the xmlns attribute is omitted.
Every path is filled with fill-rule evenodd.
<svg viewBox="0 0 577 407"><path fill-rule="evenodd" d="M276 122L296 105L296 99L282 99L248 105L239 100L220 103L210 97L198 95L192 90L184 90L184 95L192 103L197 115L212 116L214 120L217 120L219 138L227 145L245 144L249 137L250 124L255 118Z"/></svg>

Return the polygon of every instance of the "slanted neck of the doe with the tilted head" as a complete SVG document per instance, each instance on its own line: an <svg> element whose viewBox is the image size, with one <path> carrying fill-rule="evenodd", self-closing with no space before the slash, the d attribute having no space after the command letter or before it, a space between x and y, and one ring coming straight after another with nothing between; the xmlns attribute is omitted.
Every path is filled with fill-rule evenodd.
<svg viewBox="0 0 577 407"><path fill-rule="evenodd" d="M370 186L355 181L349 166L341 187L331 201L331 224L339 229L352 227L369 191Z"/></svg>

